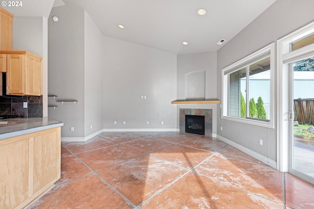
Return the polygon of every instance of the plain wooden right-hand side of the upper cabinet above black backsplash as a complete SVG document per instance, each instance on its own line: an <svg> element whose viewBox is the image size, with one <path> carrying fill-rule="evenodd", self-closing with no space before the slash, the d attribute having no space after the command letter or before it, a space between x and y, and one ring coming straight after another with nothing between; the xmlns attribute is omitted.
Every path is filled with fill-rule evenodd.
<svg viewBox="0 0 314 209"><path fill-rule="evenodd" d="M27 55L26 57L25 95L41 95L41 60Z"/></svg>

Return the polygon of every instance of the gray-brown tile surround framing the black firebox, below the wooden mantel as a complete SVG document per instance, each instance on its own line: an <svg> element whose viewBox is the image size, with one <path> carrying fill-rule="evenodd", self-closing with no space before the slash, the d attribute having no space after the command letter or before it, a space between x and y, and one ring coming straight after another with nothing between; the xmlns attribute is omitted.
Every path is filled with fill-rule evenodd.
<svg viewBox="0 0 314 209"><path fill-rule="evenodd" d="M205 116L205 135L212 136L212 109L182 109L180 108L180 132L185 132L185 115Z"/></svg>

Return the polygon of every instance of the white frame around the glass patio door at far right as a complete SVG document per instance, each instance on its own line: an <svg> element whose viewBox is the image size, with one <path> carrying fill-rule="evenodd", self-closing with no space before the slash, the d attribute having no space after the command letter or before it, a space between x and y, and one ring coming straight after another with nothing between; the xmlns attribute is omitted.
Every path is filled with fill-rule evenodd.
<svg viewBox="0 0 314 209"><path fill-rule="evenodd" d="M277 169L289 171L289 64L287 60L313 51L314 44L290 52L290 43L314 33L314 22L277 41ZM292 111L293 112L293 111ZM294 174L294 173L293 173ZM312 178L306 181L313 181Z"/></svg>

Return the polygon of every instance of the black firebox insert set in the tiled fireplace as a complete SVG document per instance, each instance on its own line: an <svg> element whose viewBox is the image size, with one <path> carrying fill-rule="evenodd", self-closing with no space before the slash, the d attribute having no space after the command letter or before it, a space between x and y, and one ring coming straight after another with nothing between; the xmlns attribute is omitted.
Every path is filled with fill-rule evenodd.
<svg viewBox="0 0 314 209"><path fill-rule="evenodd" d="M205 135L205 116L185 115L185 132Z"/></svg>

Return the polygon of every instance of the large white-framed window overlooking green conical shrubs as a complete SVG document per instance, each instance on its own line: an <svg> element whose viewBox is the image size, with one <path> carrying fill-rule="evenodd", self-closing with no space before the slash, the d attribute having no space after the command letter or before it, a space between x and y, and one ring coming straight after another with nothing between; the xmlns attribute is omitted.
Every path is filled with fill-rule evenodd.
<svg viewBox="0 0 314 209"><path fill-rule="evenodd" d="M271 44L222 70L222 117L272 127L273 48Z"/></svg>

